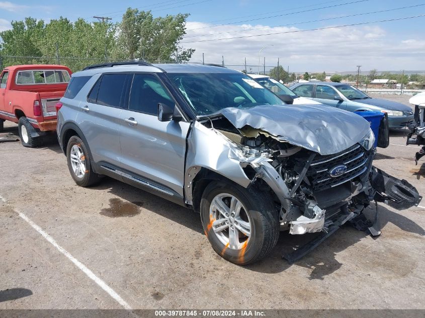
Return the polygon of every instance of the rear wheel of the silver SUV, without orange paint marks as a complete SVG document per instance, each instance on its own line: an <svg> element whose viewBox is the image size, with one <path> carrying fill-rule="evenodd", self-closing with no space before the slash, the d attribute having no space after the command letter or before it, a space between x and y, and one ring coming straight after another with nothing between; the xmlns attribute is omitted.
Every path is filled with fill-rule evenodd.
<svg viewBox="0 0 425 318"><path fill-rule="evenodd" d="M66 147L66 160L69 172L75 183L80 186L91 186L99 181L99 175L92 169L89 152L78 136L72 136Z"/></svg>

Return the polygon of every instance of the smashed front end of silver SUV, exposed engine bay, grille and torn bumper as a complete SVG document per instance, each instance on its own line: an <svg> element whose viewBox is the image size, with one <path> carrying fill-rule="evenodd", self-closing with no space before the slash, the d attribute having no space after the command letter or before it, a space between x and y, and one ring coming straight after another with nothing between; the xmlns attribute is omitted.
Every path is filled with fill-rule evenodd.
<svg viewBox="0 0 425 318"><path fill-rule="evenodd" d="M419 201L417 190L407 181L372 165L376 153L373 134L355 136L357 142L342 151L321 154L311 150L319 150L320 143L294 145L260 126L232 122L226 112L201 124L228 141L232 149L228 156L238 161L249 184L271 192L281 230L289 229L291 234L322 232L322 240L350 222L359 230L379 235L377 205L372 219L363 214L371 202L391 200L394 207L403 209ZM347 136L340 139L350 143Z"/></svg>

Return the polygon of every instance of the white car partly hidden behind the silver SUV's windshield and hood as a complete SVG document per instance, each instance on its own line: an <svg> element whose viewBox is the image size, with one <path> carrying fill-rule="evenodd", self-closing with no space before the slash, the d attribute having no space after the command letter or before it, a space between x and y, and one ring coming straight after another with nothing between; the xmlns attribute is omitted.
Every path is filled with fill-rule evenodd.
<svg viewBox="0 0 425 318"><path fill-rule="evenodd" d="M276 79L271 78L267 75L259 75L259 74L246 74L252 79L256 80L260 84L266 86L268 89L270 89L272 92L274 92L276 95L278 95L283 101L286 103L292 103L292 104L322 104L321 102L315 101L310 98L298 96L296 93L294 93L292 90L290 90L288 87L286 87L281 82L278 82ZM289 97L289 98L288 98ZM291 102L293 99L293 102Z"/></svg>

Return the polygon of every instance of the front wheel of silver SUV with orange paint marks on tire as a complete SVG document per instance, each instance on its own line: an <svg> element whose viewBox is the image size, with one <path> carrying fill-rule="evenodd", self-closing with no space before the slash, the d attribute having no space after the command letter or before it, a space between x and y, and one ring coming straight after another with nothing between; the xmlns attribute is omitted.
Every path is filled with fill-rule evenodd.
<svg viewBox="0 0 425 318"><path fill-rule="evenodd" d="M246 265L264 258L279 238L278 213L265 192L212 181L201 198L201 221L214 251Z"/></svg>

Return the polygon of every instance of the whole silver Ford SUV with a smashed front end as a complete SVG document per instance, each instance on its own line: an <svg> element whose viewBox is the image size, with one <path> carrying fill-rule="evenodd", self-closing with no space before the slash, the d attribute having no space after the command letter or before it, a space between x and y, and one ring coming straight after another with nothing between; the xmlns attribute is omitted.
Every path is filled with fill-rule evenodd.
<svg viewBox="0 0 425 318"><path fill-rule="evenodd" d="M362 117L317 105L285 105L224 67L128 62L74 73L57 108L57 133L80 186L100 175L201 214L223 258L265 257L281 230L339 226L379 234L370 201L411 206L418 193L372 166L375 137Z"/></svg>

